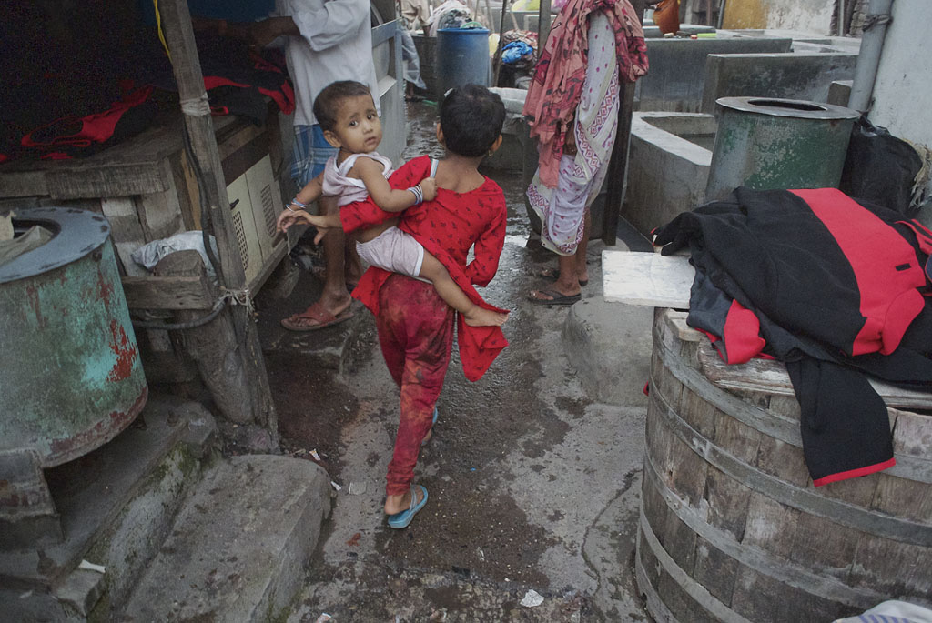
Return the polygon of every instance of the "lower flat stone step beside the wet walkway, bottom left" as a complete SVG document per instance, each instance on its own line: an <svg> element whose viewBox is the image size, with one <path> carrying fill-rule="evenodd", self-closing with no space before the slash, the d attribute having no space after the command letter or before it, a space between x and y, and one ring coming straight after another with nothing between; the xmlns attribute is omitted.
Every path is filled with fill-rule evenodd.
<svg viewBox="0 0 932 623"><path fill-rule="evenodd" d="M222 461L185 501L121 620L277 620L329 512L322 467L269 454Z"/></svg>

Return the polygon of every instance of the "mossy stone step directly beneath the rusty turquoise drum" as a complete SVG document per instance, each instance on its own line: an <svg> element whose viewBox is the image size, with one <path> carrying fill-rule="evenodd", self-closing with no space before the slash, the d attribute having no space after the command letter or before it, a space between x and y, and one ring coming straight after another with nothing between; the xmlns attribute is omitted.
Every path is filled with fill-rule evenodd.
<svg viewBox="0 0 932 623"><path fill-rule="evenodd" d="M45 470L62 539L0 550L0 620L106 618L171 530L214 438L199 403L150 394L117 438ZM21 612L47 614L4 616Z"/></svg>

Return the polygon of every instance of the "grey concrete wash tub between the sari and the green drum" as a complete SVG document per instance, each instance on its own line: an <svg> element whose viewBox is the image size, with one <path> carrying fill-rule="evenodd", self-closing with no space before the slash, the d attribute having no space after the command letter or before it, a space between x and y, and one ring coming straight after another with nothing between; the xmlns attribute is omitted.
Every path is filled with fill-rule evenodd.
<svg viewBox="0 0 932 623"><path fill-rule="evenodd" d="M624 220L650 236L655 227L702 203L712 152L678 134L714 135L715 131L712 115L635 113L621 212Z"/></svg>

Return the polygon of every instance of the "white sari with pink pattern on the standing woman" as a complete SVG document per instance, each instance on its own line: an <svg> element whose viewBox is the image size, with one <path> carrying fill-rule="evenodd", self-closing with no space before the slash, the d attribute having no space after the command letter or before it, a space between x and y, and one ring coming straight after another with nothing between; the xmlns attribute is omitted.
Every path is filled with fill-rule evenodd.
<svg viewBox="0 0 932 623"><path fill-rule="evenodd" d="M560 255L572 255L583 239L585 214L605 181L618 130L621 104L615 33L604 13L590 14L588 41L573 132L576 154L560 157L555 188L541 181L540 169L528 187L531 208L541 217L541 244Z"/></svg>

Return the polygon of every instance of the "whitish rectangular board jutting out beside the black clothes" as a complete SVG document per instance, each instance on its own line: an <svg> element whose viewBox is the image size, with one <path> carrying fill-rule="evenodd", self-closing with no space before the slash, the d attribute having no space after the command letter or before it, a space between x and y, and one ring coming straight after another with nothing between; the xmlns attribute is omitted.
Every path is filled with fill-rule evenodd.
<svg viewBox="0 0 932 623"><path fill-rule="evenodd" d="M605 300L689 309L695 269L683 255L602 251Z"/></svg>

